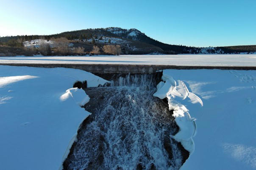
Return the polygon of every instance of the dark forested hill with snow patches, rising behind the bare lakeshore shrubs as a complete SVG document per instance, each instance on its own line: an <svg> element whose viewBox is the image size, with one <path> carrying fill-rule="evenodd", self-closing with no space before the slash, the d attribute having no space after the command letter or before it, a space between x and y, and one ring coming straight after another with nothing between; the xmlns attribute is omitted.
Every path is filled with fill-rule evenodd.
<svg viewBox="0 0 256 170"><path fill-rule="evenodd" d="M170 45L148 37L137 29L122 29L119 27L75 30L53 35L21 35L0 37L0 44L7 46L22 46L22 42L38 39L47 41L56 38L67 38L75 48L82 47L84 52L93 50L96 45L100 49L104 45L120 45L121 54L239 54L255 53L256 45L226 46L226 47L189 47ZM26 44L26 43L25 43ZM40 45L40 44L36 44Z"/></svg>

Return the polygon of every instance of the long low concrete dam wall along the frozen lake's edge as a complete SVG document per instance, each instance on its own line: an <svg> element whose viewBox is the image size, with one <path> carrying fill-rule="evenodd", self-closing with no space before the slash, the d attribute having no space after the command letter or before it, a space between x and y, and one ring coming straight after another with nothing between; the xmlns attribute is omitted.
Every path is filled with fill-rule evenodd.
<svg viewBox="0 0 256 170"><path fill-rule="evenodd" d="M164 69L195 70L195 69L219 69L219 70L256 70L256 67L245 66L177 66L177 65L114 65L114 64L31 64L31 63L0 63L0 65L28 66L28 67L64 67L85 70L91 73L134 73L151 74Z"/></svg>

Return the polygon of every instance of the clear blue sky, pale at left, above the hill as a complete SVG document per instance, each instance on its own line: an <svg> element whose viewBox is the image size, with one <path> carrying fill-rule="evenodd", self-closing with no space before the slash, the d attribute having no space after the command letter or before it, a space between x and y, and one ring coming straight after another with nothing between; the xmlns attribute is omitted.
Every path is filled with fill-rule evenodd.
<svg viewBox="0 0 256 170"><path fill-rule="evenodd" d="M256 0L0 0L0 36L101 27L186 46L256 45Z"/></svg>

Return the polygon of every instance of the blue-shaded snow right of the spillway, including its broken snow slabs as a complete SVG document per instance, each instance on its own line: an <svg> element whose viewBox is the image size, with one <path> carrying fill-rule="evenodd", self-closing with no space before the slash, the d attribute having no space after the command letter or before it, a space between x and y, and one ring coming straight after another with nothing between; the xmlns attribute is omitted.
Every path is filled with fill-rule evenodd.
<svg viewBox="0 0 256 170"><path fill-rule="evenodd" d="M164 70L162 79L154 95L174 109L173 138L194 150L181 169L256 169L256 70Z"/></svg>

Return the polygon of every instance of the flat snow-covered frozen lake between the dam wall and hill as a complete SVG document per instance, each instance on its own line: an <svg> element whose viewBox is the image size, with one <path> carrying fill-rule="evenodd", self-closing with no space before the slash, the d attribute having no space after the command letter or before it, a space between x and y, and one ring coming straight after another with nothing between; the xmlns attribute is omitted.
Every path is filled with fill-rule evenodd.
<svg viewBox="0 0 256 170"><path fill-rule="evenodd" d="M120 55L73 57L0 57L0 63L253 66L256 54Z"/></svg>

